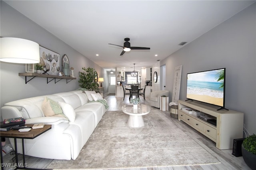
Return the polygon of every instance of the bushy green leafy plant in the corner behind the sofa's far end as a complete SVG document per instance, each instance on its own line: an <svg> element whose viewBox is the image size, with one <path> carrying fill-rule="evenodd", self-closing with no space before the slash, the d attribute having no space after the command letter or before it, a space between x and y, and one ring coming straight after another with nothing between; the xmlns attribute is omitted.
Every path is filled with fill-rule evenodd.
<svg viewBox="0 0 256 170"><path fill-rule="evenodd" d="M87 90L97 89L99 84L95 82L95 70L92 67L83 67L84 71L80 72L78 83L81 88L85 88Z"/></svg>

